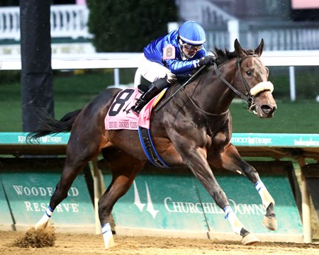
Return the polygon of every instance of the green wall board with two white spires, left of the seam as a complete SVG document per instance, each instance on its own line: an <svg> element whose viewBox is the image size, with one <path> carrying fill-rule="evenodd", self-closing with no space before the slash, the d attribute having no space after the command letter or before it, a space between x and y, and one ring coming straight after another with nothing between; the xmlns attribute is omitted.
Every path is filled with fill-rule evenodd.
<svg viewBox="0 0 319 255"><path fill-rule="evenodd" d="M108 179L108 176L105 176ZM193 212L187 203L194 206ZM197 186L189 175L138 176L113 209L118 227L207 232Z"/></svg>

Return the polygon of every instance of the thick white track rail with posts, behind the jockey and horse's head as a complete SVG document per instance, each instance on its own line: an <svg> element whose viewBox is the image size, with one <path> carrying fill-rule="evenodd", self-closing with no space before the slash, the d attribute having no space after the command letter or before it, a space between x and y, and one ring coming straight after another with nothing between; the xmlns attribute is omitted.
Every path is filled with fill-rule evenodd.
<svg viewBox="0 0 319 255"><path fill-rule="evenodd" d="M138 69L141 56L142 53L94 53L77 55L74 58L67 55L53 55L52 69L114 69L115 86L119 86L119 69ZM262 62L267 67L289 67L290 98L291 101L295 101L294 67L319 66L319 50L265 51L262 55ZM21 70L21 59L0 60L0 70ZM134 84L139 83L140 74L136 72Z"/></svg>

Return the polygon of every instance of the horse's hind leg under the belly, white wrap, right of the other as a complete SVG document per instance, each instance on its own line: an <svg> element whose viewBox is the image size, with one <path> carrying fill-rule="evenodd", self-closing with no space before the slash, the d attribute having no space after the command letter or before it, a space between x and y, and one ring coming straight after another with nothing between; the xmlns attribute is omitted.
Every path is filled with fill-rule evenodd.
<svg viewBox="0 0 319 255"><path fill-rule="evenodd" d="M106 249L113 246L113 234L111 232L111 211L116 201L121 198L132 185L136 174L145 163L131 157L118 149L111 149L106 152L103 150L103 156L106 153L112 154L112 160L108 160L108 166L111 169L112 181L106 192L99 200L99 219L101 222L103 239ZM111 158L106 156L107 159Z"/></svg>

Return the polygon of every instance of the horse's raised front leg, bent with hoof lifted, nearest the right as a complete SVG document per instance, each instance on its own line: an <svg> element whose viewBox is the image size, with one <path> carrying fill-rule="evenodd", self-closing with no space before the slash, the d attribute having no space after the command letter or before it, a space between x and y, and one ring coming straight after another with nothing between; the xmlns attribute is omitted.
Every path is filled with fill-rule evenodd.
<svg viewBox="0 0 319 255"><path fill-rule="evenodd" d="M277 220L274 213L274 198L272 198L266 186L264 186L256 169L240 157L235 146L229 144L221 152L210 152L208 154L208 162L216 168L227 169L247 176L247 178L254 183L260 198L262 198L262 205L264 205L264 208L266 209L263 220L264 226L268 229L276 230Z"/></svg>

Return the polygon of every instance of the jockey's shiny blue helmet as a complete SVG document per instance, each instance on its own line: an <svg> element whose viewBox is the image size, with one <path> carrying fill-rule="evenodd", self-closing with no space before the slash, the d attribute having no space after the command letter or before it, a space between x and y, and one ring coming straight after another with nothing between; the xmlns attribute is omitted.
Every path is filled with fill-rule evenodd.
<svg viewBox="0 0 319 255"><path fill-rule="evenodd" d="M181 24L179 38L191 45L203 45L206 42L205 31L195 21L186 21Z"/></svg>

